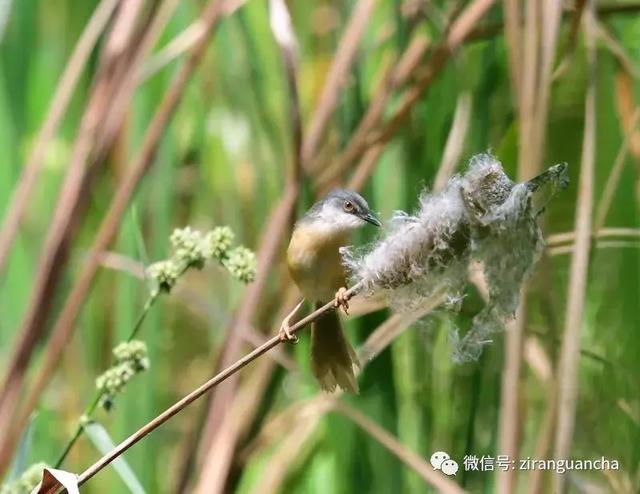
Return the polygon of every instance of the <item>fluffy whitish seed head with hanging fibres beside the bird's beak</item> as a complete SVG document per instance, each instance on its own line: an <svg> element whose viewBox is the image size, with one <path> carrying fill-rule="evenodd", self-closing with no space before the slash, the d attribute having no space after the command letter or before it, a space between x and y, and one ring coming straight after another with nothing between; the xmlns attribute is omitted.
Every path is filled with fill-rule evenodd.
<svg viewBox="0 0 640 494"><path fill-rule="evenodd" d="M367 250L343 249L351 281L362 283L365 293L383 293L392 308L406 311L436 291L458 297L469 263L479 261L489 301L464 337L451 335L455 360L477 359L489 335L513 317L522 283L542 251L532 194L545 180L565 186L565 172L566 165L556 165L534 187L533 181L511 181L490 154L473 157L467 171L452 177L442 192L423 192L414 214L396 213Z"/></svg>

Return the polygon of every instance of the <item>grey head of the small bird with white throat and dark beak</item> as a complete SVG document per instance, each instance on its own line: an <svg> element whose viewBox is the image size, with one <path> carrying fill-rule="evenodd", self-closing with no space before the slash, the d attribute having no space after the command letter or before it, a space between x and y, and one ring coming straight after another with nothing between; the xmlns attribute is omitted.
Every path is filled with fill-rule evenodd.
<svg viewBox="0 0 640 494"><path fill-rule="evenodd" d="M350 231L361 227L365 223L381 226L367 201L357 192L336 189L316 202L301 220L313 223L318 228L332 231Z"/></svg>

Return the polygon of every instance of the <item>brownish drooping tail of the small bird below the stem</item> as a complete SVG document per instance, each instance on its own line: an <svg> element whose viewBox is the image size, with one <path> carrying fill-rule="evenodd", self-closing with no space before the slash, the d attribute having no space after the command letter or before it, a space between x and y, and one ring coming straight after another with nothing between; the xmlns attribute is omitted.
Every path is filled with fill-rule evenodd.
<svg viewBox="0 0 640 494"><path fill-rule="evenodd" d="M360 367L356 352L342 332L338 314L330 311L311 326L313 374L324 391L332 392L339 386L357 393L355 367Z"/></svg>

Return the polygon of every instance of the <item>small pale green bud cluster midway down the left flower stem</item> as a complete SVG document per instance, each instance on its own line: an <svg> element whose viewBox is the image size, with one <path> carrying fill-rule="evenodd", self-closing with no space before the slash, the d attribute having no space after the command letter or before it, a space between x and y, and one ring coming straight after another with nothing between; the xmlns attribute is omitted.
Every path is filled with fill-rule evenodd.
<svg viewBox="0 0 640 494"><path fill-rule="evenodd" d="M100 404L106 410L113 406L113 400L121 393L136 374L149 368L147 346L139 340L120 343L113 349L115 362L96 379L100 392Z"/></svg>

